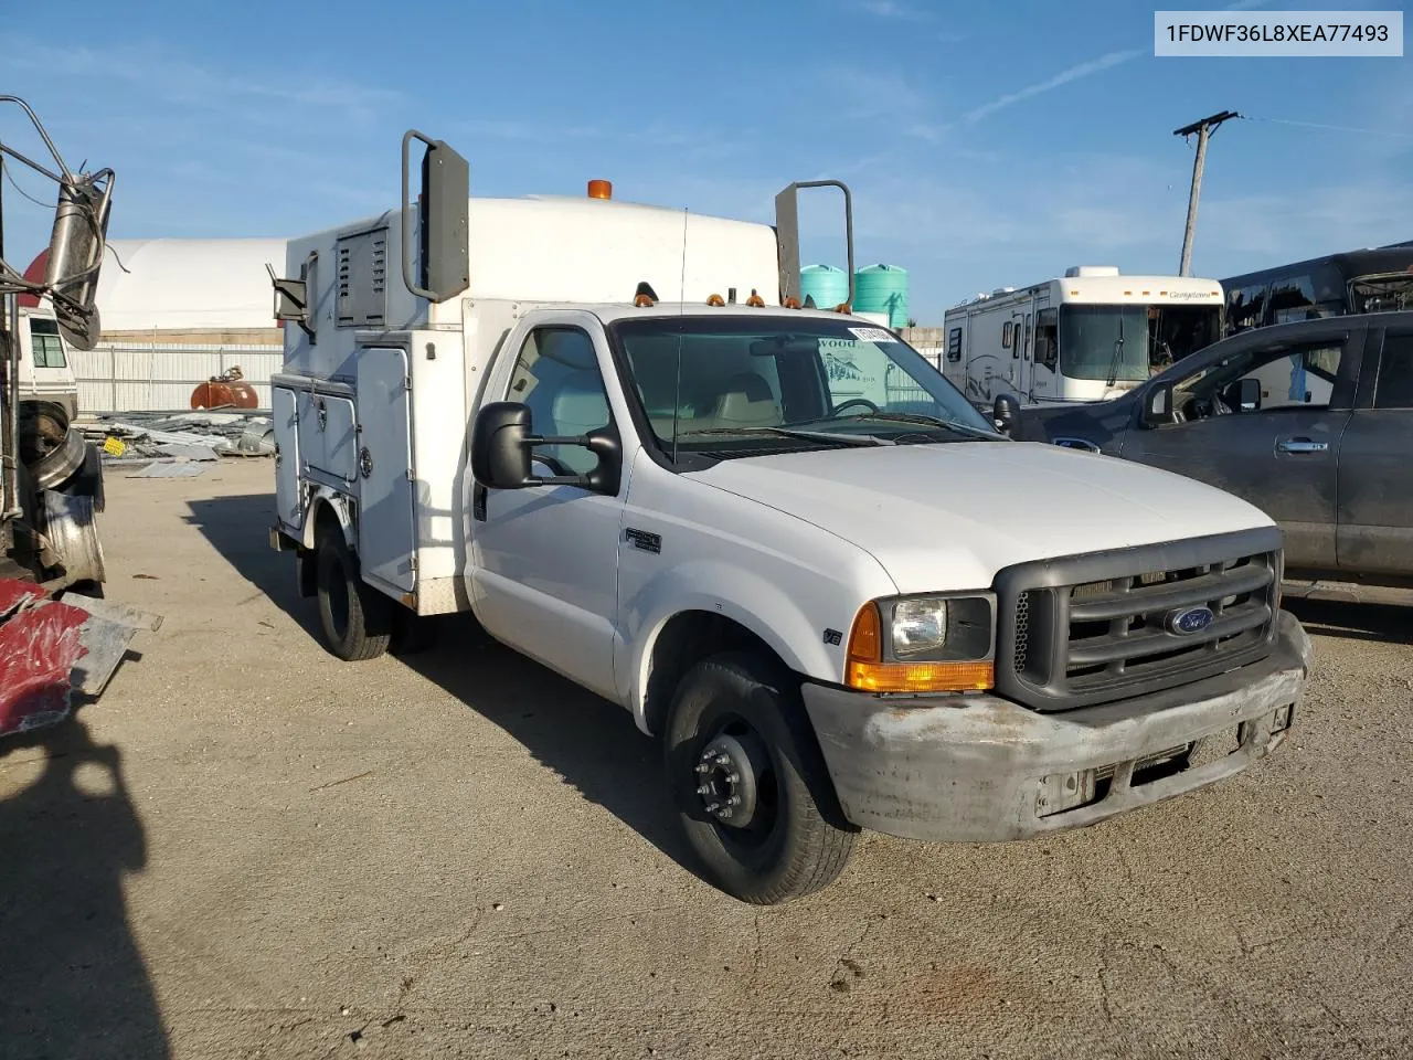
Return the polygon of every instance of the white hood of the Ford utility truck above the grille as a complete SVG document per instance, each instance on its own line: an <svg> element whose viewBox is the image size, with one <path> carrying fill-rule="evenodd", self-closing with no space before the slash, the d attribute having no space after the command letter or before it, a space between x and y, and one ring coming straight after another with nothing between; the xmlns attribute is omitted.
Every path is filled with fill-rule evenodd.
<svg viewBox="0 0 1413 1060"><path fill-rule="evenodd" d="M1272 524L1201 482L1030 442L750 457L691 478L856 544L899 592L986 588L1016 563Z"/></svg>

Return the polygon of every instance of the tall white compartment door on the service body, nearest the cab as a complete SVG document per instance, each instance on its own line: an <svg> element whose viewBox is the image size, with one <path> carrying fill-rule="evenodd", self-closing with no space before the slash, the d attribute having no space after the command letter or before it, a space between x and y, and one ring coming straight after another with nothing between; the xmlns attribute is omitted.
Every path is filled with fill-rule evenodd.
<svg viewBox="0 0 1413 1060"><path fill-rule="evenodd" d="M357 358L357 551L365 578L411 592L417 578L415 482L407 353Z"/></svg>

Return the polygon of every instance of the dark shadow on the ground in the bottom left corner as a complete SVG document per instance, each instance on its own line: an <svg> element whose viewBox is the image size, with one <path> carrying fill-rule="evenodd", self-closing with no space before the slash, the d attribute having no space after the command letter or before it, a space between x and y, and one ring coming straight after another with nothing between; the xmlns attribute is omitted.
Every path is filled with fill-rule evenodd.
<svg viewBox="0 0 1413 1060"><path fill-rule="evenodd" d="M44 759L8 793L4 775ZM117 748L81 721L0 742L0 1053L168 1056L123 878L147 862Z"/></svg>

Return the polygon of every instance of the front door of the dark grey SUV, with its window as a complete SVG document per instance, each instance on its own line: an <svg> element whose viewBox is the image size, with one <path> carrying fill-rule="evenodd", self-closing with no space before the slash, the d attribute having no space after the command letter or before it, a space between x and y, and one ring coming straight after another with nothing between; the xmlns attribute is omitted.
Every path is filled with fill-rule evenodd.
<svg viewBox="0 0 1413 1060"><path fill-rule="evenodd" d="M1174 386L1186 421L1130 431L1123 457L1249 500L1284 531L1287 567L1332 570L1340 440L1362 341L1359 329L1325 331L1208 360ZM1259 383L1256 407L1241 407L1243 379Z"/></svg>

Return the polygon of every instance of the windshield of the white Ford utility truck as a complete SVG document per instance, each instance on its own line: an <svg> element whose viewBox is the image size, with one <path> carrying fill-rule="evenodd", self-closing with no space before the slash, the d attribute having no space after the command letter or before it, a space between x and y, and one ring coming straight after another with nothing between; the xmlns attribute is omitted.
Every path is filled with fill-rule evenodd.
<svg viewBox="0 0 1413 1060"><path fill-rule="evenodd" d="M849 321L654 317L610 328L670 458L1000 435L917 351Z"/></svg>

